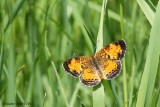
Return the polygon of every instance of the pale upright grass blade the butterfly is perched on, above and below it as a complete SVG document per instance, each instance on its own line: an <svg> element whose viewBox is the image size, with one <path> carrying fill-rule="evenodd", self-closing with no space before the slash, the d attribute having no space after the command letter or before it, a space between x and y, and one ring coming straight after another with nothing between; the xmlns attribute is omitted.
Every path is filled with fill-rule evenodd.
<svg viewBox="0 0 160 107"><path fill-rule="evenodd" d="M97 35L96 52L99 51L103 47L103 19L104 19L104 14L105 14L104 10L107 5L107 2L108 2L108 0L103 0L99 31L98 31L98 35ZM103 84L99 84L99 85L93 87L93 107L105 107Z"/></svg>

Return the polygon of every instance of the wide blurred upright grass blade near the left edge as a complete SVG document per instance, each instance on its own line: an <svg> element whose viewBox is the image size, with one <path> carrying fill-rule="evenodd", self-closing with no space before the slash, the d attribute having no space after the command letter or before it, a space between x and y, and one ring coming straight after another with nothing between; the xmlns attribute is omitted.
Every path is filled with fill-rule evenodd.
<svg viewBox="0 0 160 107"><path fill-rule="evenodd" d="M11 2L8 3L9 8L9 17L12 18L11 10L12 10L12 4ZM7 80L7 102L15 102L16 101L16 90L15 90L15 41L14 41L14 27L13 25L10 26L10 29L7 33L10 34L10 38L8 39L9 43L9 54L8 54L8 80ZM13 105L15 107L15 105Z"/></svg>

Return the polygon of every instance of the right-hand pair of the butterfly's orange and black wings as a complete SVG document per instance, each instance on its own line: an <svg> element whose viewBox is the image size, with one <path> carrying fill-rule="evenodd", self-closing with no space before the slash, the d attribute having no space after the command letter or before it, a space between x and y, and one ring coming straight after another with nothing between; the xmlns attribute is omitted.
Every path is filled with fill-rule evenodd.
<svg viewBox="0 0 160 107"><path fill-rule="evenodd" d="M95 54L95 59L101 69L102 79L113 79L121 71L121 59L126 51L126 43L124 40L119 40L109 45Z"/></svg>

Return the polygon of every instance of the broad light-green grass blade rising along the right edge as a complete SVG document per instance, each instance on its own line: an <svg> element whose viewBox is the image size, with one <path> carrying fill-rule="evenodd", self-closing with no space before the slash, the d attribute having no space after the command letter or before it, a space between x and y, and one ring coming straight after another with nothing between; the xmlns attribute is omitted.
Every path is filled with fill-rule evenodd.
<svg viewBox="0 0 160 107"><path fill-rule="evenodd" d="M155 78L158 69L159 55L160 55L159 17L160 17L160 2L158 3L156 9L155 19L150 33L148 52L147 52L148 54L140 83L136 107L147 106L150 103L151 95L153 92Z"/></svg>

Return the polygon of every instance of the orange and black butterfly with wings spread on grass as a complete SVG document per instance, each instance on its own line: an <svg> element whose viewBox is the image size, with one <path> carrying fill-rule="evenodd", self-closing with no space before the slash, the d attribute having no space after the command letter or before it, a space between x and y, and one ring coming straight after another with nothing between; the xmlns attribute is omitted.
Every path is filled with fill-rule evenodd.
<svg viewBox="0 0 160 107"><path fill-rule="evenodd" d="M64 61L65 71L78 77L86 86L96 86L102 79L115 78L121 71L126 42L118 40L106 45L92 56L79 56Z"/></svg>

